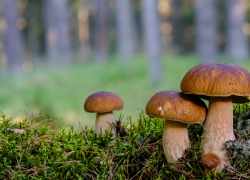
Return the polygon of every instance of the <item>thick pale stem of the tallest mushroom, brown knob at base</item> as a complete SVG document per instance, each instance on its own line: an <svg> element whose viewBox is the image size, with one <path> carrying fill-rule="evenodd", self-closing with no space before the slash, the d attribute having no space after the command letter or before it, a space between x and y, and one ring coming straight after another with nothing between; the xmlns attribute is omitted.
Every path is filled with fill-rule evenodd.
<svg viewBox="0 0 250 180"><path fill-rule="evenodd" d="M222 170L230 165L224 144L234 140L233 103L231 99L214 98L209 103L202 137L202 163L209 169ZM210 158L213 157L213 158ZM217 160L216 160L217 159Z"/></svg>

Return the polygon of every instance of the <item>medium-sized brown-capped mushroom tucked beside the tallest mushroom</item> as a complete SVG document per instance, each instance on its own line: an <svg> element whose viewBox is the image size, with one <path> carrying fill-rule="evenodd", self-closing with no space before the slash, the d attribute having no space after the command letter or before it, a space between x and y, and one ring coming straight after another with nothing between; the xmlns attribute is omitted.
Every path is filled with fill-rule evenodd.
<svg viewBox="0 0 250 180"><path fill-rule="evenodd" d="M190 147L186 124L202 123L206 105L196 96L161 91L148 101L146 113L166 120L162 137L164 154L168 162L175 163Z"/></svg>

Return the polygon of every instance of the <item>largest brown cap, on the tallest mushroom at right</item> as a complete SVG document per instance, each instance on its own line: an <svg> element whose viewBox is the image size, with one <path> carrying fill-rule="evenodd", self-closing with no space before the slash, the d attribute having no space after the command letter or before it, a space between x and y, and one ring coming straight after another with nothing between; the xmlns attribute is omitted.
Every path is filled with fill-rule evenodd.
<svg viewBox="0 0 250 180"><path fill-rule="evenodd" d="M250 73L236 65L201 64L184 76L181 90L185 94L209 97L230 97L233 102L249 101Z"/></svg>

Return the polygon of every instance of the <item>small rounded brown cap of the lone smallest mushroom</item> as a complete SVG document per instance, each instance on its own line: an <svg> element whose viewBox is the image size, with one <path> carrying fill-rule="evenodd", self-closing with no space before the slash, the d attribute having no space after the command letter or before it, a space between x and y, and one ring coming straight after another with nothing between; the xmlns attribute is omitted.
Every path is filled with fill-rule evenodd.
<svg viewBox="0 0 250 180"><path fill-rule="evenodd" d="M122 99L111 92L96 92L91 94L84 103L87 112L108 113L123 108Z"/></svg>

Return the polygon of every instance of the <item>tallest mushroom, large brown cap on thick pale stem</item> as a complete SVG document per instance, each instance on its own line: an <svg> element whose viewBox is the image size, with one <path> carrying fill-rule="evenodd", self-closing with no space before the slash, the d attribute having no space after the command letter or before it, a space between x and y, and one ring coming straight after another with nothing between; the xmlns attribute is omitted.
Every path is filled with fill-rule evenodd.
<svg viewBox="0 0 250 180"><path fill-rule="evenodd" d="M181 90L209 100L202 137L202 163L221 171L230 165L224 144L235 139L233 103L248 101L250 74L236 65L201 64L186 73Z"/></svg>

